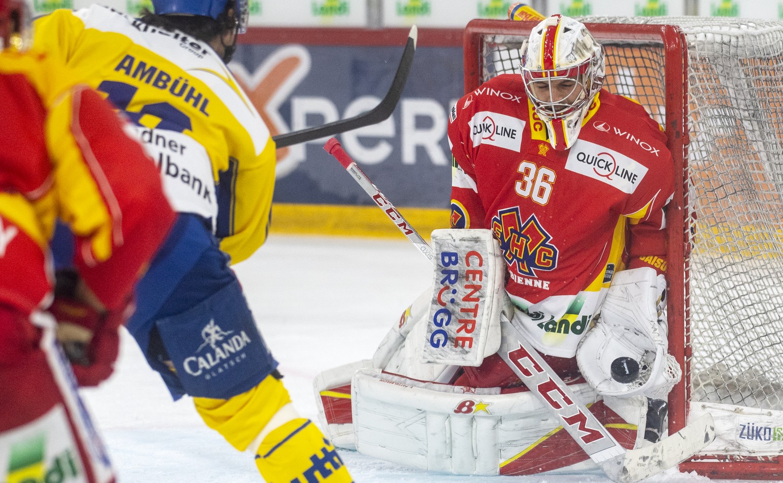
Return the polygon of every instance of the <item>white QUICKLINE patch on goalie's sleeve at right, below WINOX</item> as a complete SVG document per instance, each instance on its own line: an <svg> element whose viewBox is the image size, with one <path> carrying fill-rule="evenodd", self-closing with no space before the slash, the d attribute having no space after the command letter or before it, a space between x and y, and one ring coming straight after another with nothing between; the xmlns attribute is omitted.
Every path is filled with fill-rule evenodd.
<svg viewBox="0 0 783 483"><path fill-rule="evenodd" d="M594 142L577 140L568 152L565 169L633 193L648 168L621 153Z"/></svg>

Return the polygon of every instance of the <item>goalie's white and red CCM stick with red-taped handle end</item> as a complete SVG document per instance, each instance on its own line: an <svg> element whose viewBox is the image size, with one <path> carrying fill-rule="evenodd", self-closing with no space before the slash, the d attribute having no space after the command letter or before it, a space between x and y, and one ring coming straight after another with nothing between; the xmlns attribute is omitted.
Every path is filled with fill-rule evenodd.
<svg viewBox="0 0 783 483"><path fill-rule="evenodd" d="M408 240L413 242L428 260L435 263L435 254L431 247L402 218L399 211L355 161L348 157L337 139L329 139L323 147L351 173ZM557 416L561 426L612 481L635 483L659 474L687 460L715 439L713 416L707 413L657 443L640 449L623 448L601 421L579 401L571 388L557 376L525 336L502 314L500 325L503 333L498 351L500 357L543 406Z"/></svg>

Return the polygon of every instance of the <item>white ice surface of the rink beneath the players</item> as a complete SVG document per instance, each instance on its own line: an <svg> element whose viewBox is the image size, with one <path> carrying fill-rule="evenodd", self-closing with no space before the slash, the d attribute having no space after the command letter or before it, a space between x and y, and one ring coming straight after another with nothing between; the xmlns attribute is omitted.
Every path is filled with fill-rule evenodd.
<svg viewBox="0 0 783 483"><path fill-rule="evenodd" d="M246 297L301 415L316 419L312 379L323 369L370 358L402 310L431 279L431 266L406 240L270 236L236 265ZM85 399L121 483L262 481L252 456L207 429L188 398L171 402L139 348L124 334L114 376ZM342 451L357 483L606 483L601 474L458 477ZM650 483L709 481L666 474Z"/></svg>

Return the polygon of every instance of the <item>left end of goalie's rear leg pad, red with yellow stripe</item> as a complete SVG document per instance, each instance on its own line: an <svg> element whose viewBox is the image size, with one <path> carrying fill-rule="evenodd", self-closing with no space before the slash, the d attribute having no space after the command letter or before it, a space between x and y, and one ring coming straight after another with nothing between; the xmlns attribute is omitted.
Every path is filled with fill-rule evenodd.
<svg viewBox="0 0 783 483"><path fill-rule="evenodd" d="M335 413L343 411L351 412L351 391L345 387L351 384L353 374L359 369L370 369L373 362L369 359L352 362L343 366L337 366L319 373L312 381L313 390L316 392L316 406L318 406L318 420L323 431L337 448L356 449L353 424L335 423L334 420L345 420L335 416ZM342 407L334 407L339 405Z"/></svg>

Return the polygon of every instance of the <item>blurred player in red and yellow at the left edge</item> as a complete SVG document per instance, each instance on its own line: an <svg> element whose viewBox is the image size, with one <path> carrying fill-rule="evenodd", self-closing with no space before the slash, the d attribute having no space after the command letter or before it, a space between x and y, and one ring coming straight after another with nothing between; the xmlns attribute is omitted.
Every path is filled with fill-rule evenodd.
<svg viewBox="0 0 783 483"><path fill-rule="evenodd" d="M175 215L125 121L26 51L29 30L24 2L0 0L0 481L105 483L114 473L77 388L112 373L134 283ZM58 218L77 250L55 289Z"/></svg>

